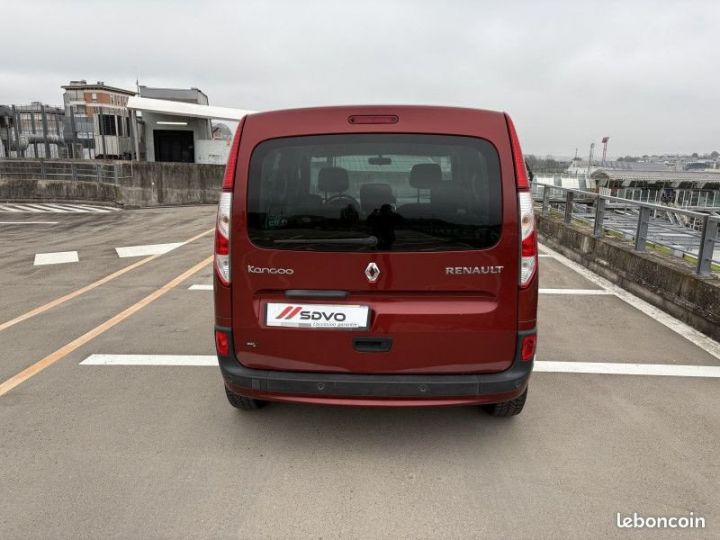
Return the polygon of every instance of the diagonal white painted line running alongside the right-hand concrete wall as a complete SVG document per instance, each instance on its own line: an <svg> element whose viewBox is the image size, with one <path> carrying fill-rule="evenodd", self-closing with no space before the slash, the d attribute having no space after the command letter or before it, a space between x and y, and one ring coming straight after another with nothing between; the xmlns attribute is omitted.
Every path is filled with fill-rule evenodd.
<svg viewBox="0 0 720 540"><path fill-rule="evenodd" d="M557 253L556 251L551 250L547 246L543 246L543 249L545 249L548 253L551 253L552 256L555 258L555 260L561 262L571 270L574 270L578 274L580 274L582 277L587 279L588 281L594 283L595 285L598 285L599 287L602 287L603 289L612 292L615 296L617 296L620 300L623 302L626 302L630 304L635 309L642 311L645 315L648 317L651 317L655 319L660 324L666 326L673 332L676 332L677 334L680 334L682 337L693 343L694 345L697 345L702 350L704 350L706 353L714 356L718 360L720 360L720 343L715 341L712 338L709 338L702 332L698 332L691 326L685 324L684 322L676 319L675 317L672 317L671 315L668 315L664 311L656 308L655 306L652 306L648 304L645 300L642 300L641 298L638 298L634 294L629 293L622 287L618 287L614 283L611 283L607 279L598 276L594 272L591 272L584 266L571 261L564 255L561 255L560 253Z"/></svg>

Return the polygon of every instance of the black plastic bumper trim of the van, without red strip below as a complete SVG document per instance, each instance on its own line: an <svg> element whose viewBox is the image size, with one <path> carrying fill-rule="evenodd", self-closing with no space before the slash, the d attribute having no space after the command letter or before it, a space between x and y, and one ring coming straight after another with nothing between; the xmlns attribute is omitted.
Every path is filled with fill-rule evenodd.
<svg viewBox="0 0 720 540"><path fill-rule="evenodd" d="M216 326L228 334L232 347L232 330ZM274 371L243 366L230 356L218 356L220 371L229 384L255 392L270 394L303 394L337 397L470 397L513 392L527 384L533 361L520 360L523 336L535 330L518 332L515 361L498 373L460 375L356 374Z"/></svg>

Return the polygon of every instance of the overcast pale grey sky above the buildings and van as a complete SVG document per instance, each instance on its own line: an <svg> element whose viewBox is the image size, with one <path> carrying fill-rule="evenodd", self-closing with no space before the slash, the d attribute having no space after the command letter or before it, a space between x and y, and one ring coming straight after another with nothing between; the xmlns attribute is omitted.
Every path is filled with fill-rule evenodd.
<svg viewBox="0 0 720 540"><path fill-rule="evenodd" d="M720 2L0 0L0 103L198 87L254 110L504 110L525 153L720 150Z"/></svg>

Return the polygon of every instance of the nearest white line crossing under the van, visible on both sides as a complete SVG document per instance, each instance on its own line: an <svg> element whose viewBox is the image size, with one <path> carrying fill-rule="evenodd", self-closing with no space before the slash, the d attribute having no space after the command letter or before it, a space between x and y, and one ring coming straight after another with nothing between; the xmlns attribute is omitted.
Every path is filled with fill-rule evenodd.
<svg viewBox="0 0 720 540"><path fill-rule="evenodd" d="M82 366L217 366L214 354L91 354ZM541 373L585 373L594 375L651 375L665 377L720 378L720 366L673 364L621 364L609 362L536 361L534 371Z"/></svg>

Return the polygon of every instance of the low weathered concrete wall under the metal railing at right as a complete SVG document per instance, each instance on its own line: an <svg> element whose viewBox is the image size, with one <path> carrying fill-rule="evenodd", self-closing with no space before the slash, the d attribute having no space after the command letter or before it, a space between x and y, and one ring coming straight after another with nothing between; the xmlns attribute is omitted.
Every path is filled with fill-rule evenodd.
<svg viewBox="0 0 720 540"><path fill-rule="evenodd" d="M693 328L720 340L720 279L700 278L675 257L638 253L613 238L595 238L588 228L536 216L542 241Z"/></svg>

